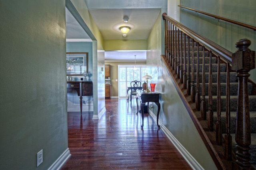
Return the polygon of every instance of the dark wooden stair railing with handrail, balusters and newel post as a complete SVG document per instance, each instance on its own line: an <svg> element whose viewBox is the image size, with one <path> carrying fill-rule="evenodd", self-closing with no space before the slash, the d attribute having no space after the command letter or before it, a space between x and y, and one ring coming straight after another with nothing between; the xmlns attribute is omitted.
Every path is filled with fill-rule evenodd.
<svg viewBox="0 0 256 170"><path fill-rule="evenodd" d="M242 39L236 43L238 51L232 54L220 45L202 37L188 27L173 20L166 13L165 20L165 59L183 84L190 101L195 103L197 118L206 120L208 130L216 134L215 143L224 142L226 160L232 161L232 169L254 169L250 164L250 110L248 98L248 73L255 68L255 51L251 51L250 40ZM192 52L191 52L192 51ZM224 68L224 69L223 69ZM212 70L216 70L212 72ZM230 135L230 75L238 77L236 109L236 152L232 158L232 137ZM226 79L220 78L222 75ZM236 81L235 80L235 81ZM233 80L234 81L234 80ZM208 83L208 85L207 85ZM224 85L225 84L225 85ZM221 86L226 86L225 92ZM208 94L206 88L208 87ZM213 98L213 91L214 96ZM208 98L208 100L207 100ZM222 129L222 105L226 100L225 129ZM216 113L215 113L216 111ZM214 128L214 114L216 123ZM196 121L194 121L196 122ZM224 132L224 137L222 136ZM204 140L207 141L207 140ZM212 154L211 154L212 155ZM222 167L223 168L223 167Z"/></svg>

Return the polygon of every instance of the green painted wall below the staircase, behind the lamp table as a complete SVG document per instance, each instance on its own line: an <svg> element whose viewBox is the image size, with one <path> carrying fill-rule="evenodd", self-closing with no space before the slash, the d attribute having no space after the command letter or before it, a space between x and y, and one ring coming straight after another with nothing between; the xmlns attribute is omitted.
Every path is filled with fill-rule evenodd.
<svg viewBox="0 0 256 170"><path fill-rule="evenodd" d="M172 78L160 61L160 55L163 54L161 30L164 27L161 14L148 37L147 52L148 74L152 76L151 82L156 82L155 90L161 93L159 120L204 169L216 170L204 142L172 83ZM155 104L153 106L152 111L156 114L157 106Z"/></svg>

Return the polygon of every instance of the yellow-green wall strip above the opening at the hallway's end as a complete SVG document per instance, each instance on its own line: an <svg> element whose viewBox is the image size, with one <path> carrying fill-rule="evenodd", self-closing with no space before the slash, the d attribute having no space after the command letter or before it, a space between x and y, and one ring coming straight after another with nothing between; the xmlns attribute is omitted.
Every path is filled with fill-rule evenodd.
<svg viewBox="0 0 256 170"><path fill-rule="evenodd" d="M105 51L146 50L147 40L104 40Z"/></svg>

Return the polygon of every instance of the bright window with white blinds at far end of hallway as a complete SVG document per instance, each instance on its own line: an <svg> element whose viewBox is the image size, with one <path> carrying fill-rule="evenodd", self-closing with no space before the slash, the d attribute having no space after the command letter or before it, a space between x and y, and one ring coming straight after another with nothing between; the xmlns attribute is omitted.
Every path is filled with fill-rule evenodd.
<svg viewBox="0 0 256 170"><path fill-rule="evenodd" d="M130 87L130 82L137 80L142 83L142 77L147 73L146 65L118 65L118 94L119 98L127 98L127 87Z"/></svg>

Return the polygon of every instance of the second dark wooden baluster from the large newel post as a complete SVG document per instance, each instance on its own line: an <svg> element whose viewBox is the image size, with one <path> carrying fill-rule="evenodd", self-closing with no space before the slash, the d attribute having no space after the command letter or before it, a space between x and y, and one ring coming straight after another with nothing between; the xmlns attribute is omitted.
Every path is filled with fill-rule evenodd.
<svg viewBox="0 0 256 170"><path fill-rule="evenodd" d="M217 122L216 122L216 143L222 145L222 126L221 126L221 97L220 97L220 56L218 56L217 66Z"/></svg>

